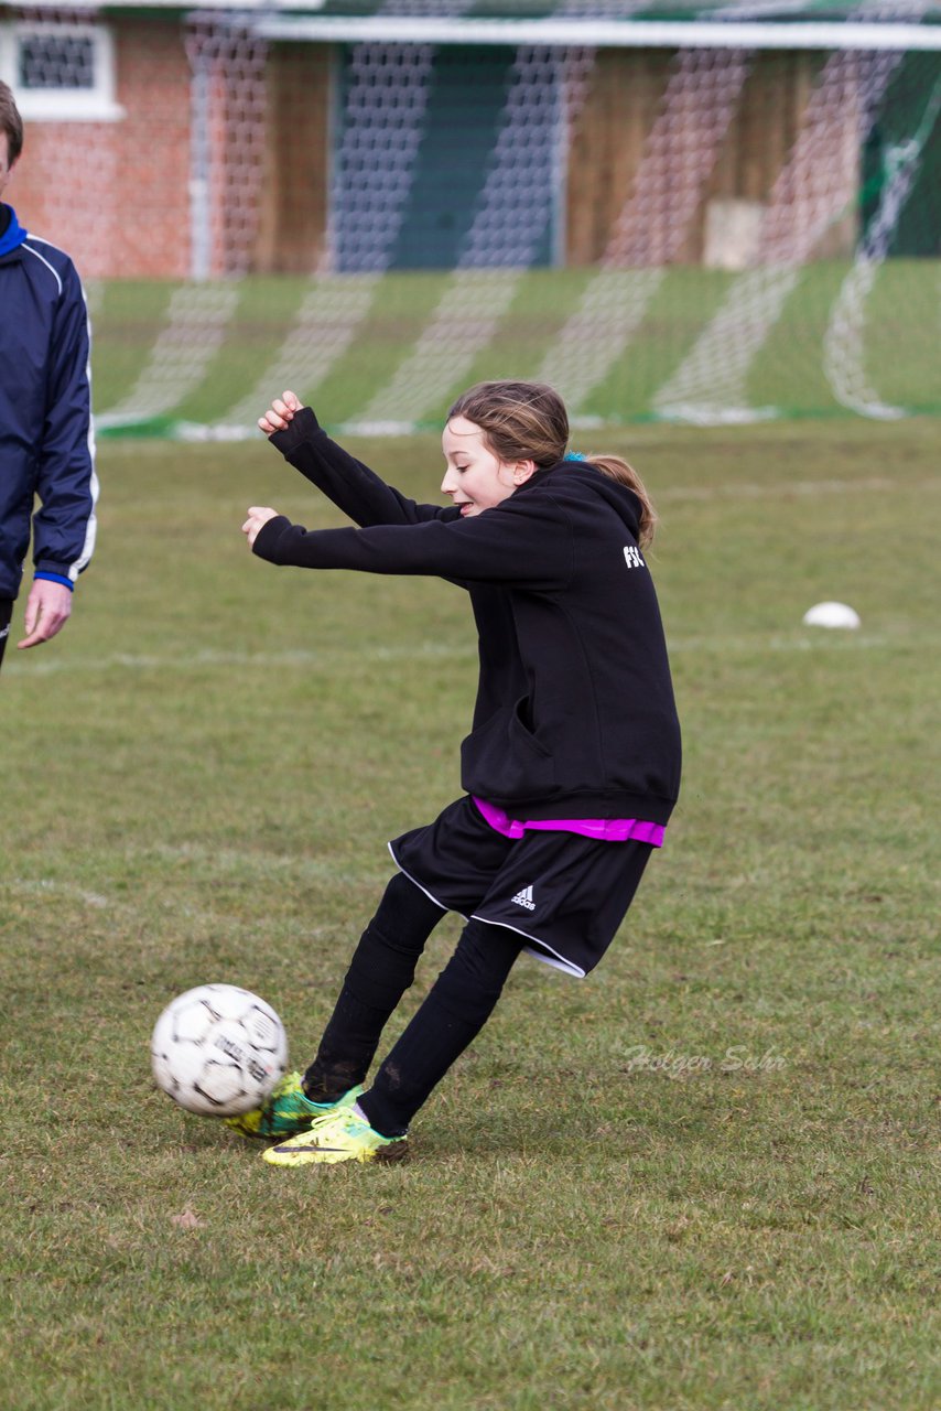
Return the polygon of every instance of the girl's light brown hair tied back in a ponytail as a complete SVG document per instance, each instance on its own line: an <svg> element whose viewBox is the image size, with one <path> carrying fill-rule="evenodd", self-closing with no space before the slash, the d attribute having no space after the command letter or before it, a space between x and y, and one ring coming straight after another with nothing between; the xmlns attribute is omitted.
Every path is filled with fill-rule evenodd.
<svg viewBox="0 0 941 1411"><path fill-rule="evenodd" d="M484 433L484 443L502 461L532 460L539 470L557 466L569 449L569 413L559 392L546 382L477 382L463 392L447 413L464 416ZM653 539L657 515L636 470L621 456L578 456L611 480L632 490L641 501L638 543Z"/></svg>

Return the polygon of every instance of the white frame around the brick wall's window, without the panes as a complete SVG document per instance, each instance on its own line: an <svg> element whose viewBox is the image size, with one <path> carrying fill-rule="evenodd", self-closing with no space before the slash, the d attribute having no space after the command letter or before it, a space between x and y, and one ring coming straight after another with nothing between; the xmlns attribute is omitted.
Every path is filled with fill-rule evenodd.
<svg viewBox="0 0 941 1411"><path fill-rule="evenodd" d="M18 82L20 42L61 37L93 41L95 82L83 89L24 89ZM103 24L49 24L17 20L0 24L0 78L10 85L27 123L116 123L124 109L114 99L114 38Z"/></svg>

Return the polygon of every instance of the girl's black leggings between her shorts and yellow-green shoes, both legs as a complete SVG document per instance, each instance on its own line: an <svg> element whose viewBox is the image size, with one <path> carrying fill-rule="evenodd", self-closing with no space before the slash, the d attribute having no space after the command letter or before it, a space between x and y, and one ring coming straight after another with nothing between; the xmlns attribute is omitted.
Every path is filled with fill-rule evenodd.
<svg viewBox="0 0 941 1411"><path fill-rule="evenodd" d="M363 1082L389 1016L444 914L402 873L392 878L356 948L317 1057L303 1078L315 1102ZM502 926L468 921L420 1009L358 1099L370 1123L398 1136L490 1019L523 945Z"/></svg>

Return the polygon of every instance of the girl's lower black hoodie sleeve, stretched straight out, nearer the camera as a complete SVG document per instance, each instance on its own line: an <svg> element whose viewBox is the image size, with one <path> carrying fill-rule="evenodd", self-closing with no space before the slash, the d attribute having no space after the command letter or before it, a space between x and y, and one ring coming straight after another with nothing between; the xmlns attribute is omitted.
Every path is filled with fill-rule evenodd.
<svg viewBox="0 0 941 1411"><path fill-rule="evenodd" d="M302 569L433 574L466 583L564 587L573 573L573 535L547 494L514 497L467 519L308 532L284 515L269 519L254 552Z"/></svg>

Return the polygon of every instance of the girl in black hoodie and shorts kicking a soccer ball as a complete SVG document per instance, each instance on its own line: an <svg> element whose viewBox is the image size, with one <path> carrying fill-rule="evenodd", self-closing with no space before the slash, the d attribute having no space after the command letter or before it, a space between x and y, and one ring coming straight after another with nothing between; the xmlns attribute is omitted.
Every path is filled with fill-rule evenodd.
<svg viewBox="0 0 941 1411"><path fill-rule="evenodd" d="M432 574L468 590L480 636L466 794L389 844L398 875L353 955L316 1058L236 1130L274 1165L391 1161L412 1118L490 1017L521 951L570 975L614 938L680 782L680 729L643 559L653 509L614 456L567 454L559 395L481 382L443 435L449 505L406 499L332 442L292 392L260 419L360 528L308 532L254 507L277 564ZM446 912L467 919L427 998L363 1084Z"/></svg>

